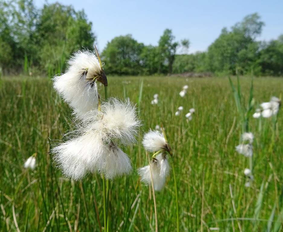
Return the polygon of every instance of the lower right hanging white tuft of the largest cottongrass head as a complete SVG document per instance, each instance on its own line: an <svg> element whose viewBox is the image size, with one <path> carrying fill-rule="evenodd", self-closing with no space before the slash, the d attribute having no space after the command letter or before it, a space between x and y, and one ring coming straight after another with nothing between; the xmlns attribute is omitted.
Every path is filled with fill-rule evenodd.
<svg viewBox="0 0 283 232"><path fill-rule="evenodd" d="M113 180L116 176L129 174L132 170L131 161L117 145L108 145L105 156L105 164L100 172L105 174L106 179Z"/></svg>

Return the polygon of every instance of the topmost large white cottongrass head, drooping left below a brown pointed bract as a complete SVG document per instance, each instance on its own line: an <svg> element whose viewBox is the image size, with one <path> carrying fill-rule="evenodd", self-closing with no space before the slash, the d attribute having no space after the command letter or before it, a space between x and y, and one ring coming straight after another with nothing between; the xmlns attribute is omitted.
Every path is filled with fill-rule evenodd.
<svg viewBox="0 0 283 232"><path fill-rule="evenodd" d="M53 78L53 87L80 118L97 107L98 91L93 78L100 75L101 67L98 58L87 50L74 53L68 65L65 74Z"/></svg>

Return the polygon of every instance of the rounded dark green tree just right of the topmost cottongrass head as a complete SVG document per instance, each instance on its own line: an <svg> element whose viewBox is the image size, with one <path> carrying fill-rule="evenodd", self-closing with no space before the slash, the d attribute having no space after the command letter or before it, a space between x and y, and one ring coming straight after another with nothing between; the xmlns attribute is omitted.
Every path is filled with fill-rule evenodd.
<svg viewBox="0 0 283 232"><path fill-rule="evenodd" d="M138 43L132 35L115 37L107 43L101 57L107 66L107 72L117 75L142 74L141 53L143 43Z"/></svg>

